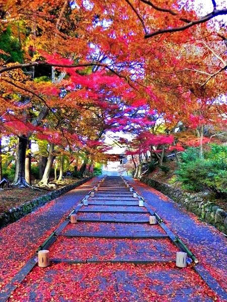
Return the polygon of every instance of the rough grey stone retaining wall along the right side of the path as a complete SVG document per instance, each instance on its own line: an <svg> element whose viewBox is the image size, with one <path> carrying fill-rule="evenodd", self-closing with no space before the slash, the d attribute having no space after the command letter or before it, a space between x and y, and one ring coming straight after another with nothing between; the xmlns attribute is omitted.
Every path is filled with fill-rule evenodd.
<svg viewBox="0 0 227 302"><path fill-rule="evenodd" d="M190 194L171 185L160 183L154 179L143 177L141 181L182 204L186 209L213 224L219 231L227 234L227 212L218 208L207 197L200 194Z"/></svg>

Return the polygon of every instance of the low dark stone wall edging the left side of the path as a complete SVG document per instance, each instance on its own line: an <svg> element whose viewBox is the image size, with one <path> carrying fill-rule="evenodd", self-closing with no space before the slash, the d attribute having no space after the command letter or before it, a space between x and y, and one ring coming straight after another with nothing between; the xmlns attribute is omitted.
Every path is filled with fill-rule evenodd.
<svg viewBox="0 0 227 302"><path fill-rule="evenodd" d="M85 183L86 181L88 181L91 178L92 177L87 177L87 178L81 179L74 184L65 186L61 189L52 191L46 195L32 199L31 201L21 204L20 206L11 208L7 212L0 215L0 228L2 228L3 226L6 226L7 224L9 224L11 222L17 221L24 215L34 211L34 209L44 205L46 202L48 202L52 199L55 199L70 190L73 190L74 188L82 185L83 183Z"/></svg>

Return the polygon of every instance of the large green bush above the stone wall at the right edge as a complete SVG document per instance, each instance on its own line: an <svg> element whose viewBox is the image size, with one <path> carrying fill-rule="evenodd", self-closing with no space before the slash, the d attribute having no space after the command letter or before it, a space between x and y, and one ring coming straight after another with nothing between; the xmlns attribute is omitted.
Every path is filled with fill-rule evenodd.
<svg viewBox="0 0 227 302"><path fill-rule="evenodd" d="M183 188L198 192L209 189L220 197L227 196L227 147L212 144L199 158L198 149L182 153L177 179Z"/></svg>

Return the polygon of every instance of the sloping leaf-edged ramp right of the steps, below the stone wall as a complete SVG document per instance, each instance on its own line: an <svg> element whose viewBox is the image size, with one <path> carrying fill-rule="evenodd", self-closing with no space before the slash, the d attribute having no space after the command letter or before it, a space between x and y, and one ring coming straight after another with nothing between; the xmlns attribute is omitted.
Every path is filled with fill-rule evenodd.
<svg viewBox="0 0 227 302"><path fill-rule="evenodd" d="M227 292L226 237L157 190L139 181L130 181Z"/></svg>

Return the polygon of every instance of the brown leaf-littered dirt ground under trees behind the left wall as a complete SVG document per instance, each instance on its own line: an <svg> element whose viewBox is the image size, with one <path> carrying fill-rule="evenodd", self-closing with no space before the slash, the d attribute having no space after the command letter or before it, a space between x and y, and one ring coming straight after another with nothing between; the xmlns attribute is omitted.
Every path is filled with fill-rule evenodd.
<svg viewBox="0 0 227 302"><path fill-rule="evenodd" d="M33 190L30 188L16 189L6 188L0 189L0 214L6 212L12 207L19 206L27 201L30 201L36 197L48 194L51 191L59 189L63 186L76 182L78 179L66 178L61 184L58 184L55 188L45 188L40 190Z"/></svg>

